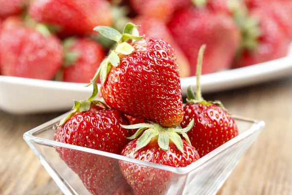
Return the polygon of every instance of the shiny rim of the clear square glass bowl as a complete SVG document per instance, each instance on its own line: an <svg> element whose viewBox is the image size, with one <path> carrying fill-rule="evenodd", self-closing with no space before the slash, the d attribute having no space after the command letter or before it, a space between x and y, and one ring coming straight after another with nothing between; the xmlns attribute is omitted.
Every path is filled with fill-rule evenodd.
<svg viewBox="0 0 292 195"><path fill-rule="evenodd" d="M161 164L157 164L157 163L146 162L146 161L135 159L135 158L130 158L128 156L112 154L112 153L108 153L108 152L103 152L103 151L94 150L94 149L90 149L90 148L86 148L86 147L71 145L71 144L67 144L67 143L61 143L61 142L57 142L55 140L50 140L50 139L34 136L34 134L46 131L48 127L55 125L63 117L67 116L68 113L65 113L59 117L56 117L48 122L45 122L45 123L37 126L36 128L33 128L32 130L25 132L23 135L24 140L28 143L28 145L31 148L34 146L31 145L30 142L35 142L37 144L46 145L46 146L50 146L50 147L68 148L68 149L78 150L81 152L87 152L87 153L91 153L91 154L95 154L95 155L107 156L107 157L115 158L117 160L128 161L131 163L136 163L136 164L144 165L147 167L162 169L165 171L173 172L173 173L178 174L178 175L188 174L189 172L199 168L201 165L203 165L204 163L207 163L214 156L219 155L221 152L223 152L227 148L229 148L232 145L236 144L237 142L243 140L244 138L251 136L255 132L262 130L265 126L264 121L257 121L257 120L248 119L248 118L244 118L244 117L233 116L234 119L241 120L244 122L250 122L250 123L254 123L254 124L245 132L239 134L237 137L234 137L233 139L222 144L221 146L219 146L218 148L216 148L215 150L213 150L209 154L201 157L199 160L193 162L192 164L190 164L186 167L171 167L171 166L161 165ZM32 150L34 150L35 153L38 153L37 151L35 151L35 147L32 148Z"/></svg>

